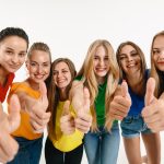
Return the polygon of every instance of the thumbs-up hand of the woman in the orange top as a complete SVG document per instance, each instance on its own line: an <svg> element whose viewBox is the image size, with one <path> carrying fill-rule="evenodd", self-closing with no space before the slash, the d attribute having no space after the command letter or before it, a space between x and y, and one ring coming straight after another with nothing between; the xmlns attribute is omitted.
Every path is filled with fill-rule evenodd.
<svg viewBox="0 0 164 164"><path fill-rule="evenodd" d="M40 97L34 99L26 95L25 109L30 113L30 119L34 132L42 133L50 119L48 107L47 89L44 82L39 83Z"/></svg>

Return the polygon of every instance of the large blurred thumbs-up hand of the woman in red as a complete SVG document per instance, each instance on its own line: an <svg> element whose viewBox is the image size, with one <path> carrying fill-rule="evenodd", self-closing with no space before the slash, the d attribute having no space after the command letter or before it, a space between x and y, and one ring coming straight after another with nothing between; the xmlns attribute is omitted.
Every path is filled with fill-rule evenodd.
<svg viewBox="0 0 164 164"><path fill-rule="evenodd" d="M12 95L9 102L10 113L7 115L0 103L0 162L7 163L15 156L19 144L10 136L20 125L21 105L16 95Z"/></svg>

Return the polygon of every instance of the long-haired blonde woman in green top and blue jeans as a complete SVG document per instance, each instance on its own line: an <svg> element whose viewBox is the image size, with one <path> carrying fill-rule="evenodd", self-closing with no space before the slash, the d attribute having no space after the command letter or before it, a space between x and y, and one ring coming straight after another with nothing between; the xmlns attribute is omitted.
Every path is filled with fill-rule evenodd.
<svg viewBox="0 0 164 164"><path fill-rule="evenodd" d="M97 39L91 44L77 80L83 81L90 91L93 122L84 137L89 163L116 164L120 139L118 122L113 122L107 116L118 85L119 70L107 40Z"/></svg>

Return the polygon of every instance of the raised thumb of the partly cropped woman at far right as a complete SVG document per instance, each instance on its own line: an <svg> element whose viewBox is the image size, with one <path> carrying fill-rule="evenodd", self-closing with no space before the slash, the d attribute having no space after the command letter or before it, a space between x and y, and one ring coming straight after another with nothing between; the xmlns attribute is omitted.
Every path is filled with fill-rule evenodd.
<svg viewBox="0 0 164 164"><path fill-rule="evenodd" d="M155 91L155 80L154 78L149 78L147 82L147 90L144 96L145 106L149 105L154 99L154 91Z"/></svg>

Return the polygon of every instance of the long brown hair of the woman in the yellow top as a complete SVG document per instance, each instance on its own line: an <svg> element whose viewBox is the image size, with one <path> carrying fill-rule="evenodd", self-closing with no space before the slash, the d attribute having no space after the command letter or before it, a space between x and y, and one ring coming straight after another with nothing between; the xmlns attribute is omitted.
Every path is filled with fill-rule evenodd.
<svg viewBox="0 0 164 164"><path fill-rule="evenodd" d="M74 80L74 77L77 74L75 67L74 67L73 62L68 58L58 58L51 65L50 75L49 75L49 83L47 84L47 89L48 89L47 94L48 94L48 102L49 102L48 112L51 113L51 117L50 117L50 120L48 122L48 133L49 133L49 136L52 136L55 138L56 138L56 131L55 131L56 114L57 114L57 106L58 106L60 97L59 97L59 89L56 86L56 84L54 82L54 70L55 70L55 67L59 62L67 63L67 66L70 70L70 73L71 73L71 82L66 87L67 98L69 98L69 91L71 89L72 81Z"/></svg>

